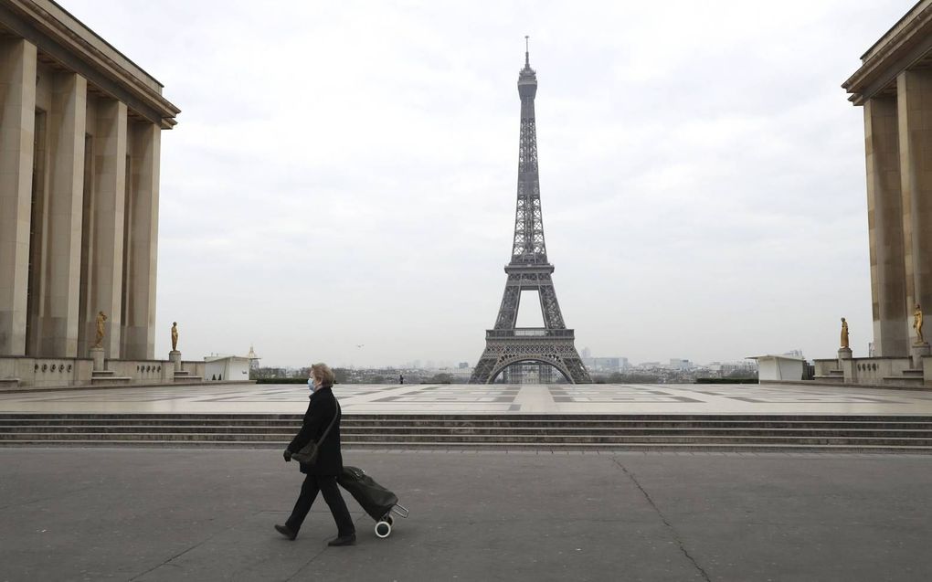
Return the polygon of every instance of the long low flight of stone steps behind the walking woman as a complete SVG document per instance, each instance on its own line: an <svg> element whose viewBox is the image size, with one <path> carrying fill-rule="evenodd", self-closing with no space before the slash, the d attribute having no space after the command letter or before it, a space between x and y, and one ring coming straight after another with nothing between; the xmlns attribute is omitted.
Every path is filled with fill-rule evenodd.
<svg viewBox="0 0 932 582"><path fill-rule="evenodd" d="M295 414L0 414L0 446L283 447ZM346 414L350 448L932 453L932 416Z"/></svg>

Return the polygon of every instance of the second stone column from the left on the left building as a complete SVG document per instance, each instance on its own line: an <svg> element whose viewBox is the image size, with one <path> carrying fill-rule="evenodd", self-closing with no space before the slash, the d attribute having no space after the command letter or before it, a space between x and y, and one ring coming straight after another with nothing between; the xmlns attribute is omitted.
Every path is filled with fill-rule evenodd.
<svg viewBox="0 0 932 582"><path fill-rule="evenodd" d="M77 356L81 271L81 212L88 82L79 74L55 74L48 118L48 277L41 297L39 355Z"/></svg>

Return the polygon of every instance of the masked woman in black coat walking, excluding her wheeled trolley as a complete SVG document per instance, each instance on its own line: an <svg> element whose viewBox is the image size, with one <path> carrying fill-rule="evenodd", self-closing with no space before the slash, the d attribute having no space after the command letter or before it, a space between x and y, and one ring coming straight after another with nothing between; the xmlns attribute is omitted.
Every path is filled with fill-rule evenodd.
<svg viewBox="0 0 932 582"><path fill-rule="evenodd" d="M349 517L343 495L336 486L336 476L343 470L343 455L340 453L340 418L333 386L334 372L326 364L310 367L308 412L304 414L301 430L285 449L284 457L285 461L291 462L292 453L300 451L311 439L320 443L320 453L315 464L301 464L301 472L307 475L301 485L301 494L298 495L291 517L284 525L276 525L275 529L288 539L295 539L317 493L321 492L336 521L336 538L327 545L350 546L356 543L356 528ZM331 422L334 425L321 443L321 437Z"/></svg>

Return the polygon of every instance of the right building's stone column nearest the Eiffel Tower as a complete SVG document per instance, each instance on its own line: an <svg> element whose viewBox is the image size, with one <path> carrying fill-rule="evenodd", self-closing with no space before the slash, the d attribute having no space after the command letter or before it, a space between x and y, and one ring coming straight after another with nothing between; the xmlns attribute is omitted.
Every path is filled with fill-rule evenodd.
<svg viewBox="0 0 932 582"><path fill-rule="evenodd" d="M864 104L864 133L874 348L877 356L903 357L909 345L896 97Z"/></svg>

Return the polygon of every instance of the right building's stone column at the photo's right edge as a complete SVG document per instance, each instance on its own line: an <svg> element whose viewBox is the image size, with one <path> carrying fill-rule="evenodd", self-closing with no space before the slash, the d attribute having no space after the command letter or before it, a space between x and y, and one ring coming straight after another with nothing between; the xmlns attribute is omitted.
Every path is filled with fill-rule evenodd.
<svg viewBox="0 0 932 582"><path fill-rule="evenodd" d="M932 71L897 77L900 180L906 254L906 309L932 306ZM912 318L905 324L913 336Z"/></svg>

